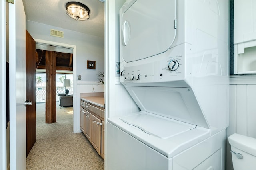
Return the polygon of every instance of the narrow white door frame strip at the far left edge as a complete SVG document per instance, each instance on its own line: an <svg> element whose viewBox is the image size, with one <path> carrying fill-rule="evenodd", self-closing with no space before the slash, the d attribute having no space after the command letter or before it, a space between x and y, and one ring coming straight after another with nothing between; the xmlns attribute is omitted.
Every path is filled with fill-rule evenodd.
<svg viewBox="0 0 256 170"><path fill-rule="evenodd" d="M0 2L0 169L7 168L6 158L6 2Z"/></svg>

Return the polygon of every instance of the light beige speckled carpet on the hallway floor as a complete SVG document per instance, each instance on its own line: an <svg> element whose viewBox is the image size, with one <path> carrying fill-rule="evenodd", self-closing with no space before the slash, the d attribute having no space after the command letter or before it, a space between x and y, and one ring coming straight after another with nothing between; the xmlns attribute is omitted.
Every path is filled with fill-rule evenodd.
<svg viewBox="0 0 256 170"><path fill-rule="evenodd" d="M104 170L104 160L83 133L73 133L73 107L56 103L56 123L45 123L45 104L36 104L36 143L27 170Z"/></svg>

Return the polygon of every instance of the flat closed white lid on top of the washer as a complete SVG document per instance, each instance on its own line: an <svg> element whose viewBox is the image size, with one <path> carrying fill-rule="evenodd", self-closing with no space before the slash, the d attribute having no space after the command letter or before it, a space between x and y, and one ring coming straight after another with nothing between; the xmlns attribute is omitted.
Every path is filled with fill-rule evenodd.
<svg viewBox="0 0 256 170"><path fill-rule="evenodd" d="M149 135L162 139L167 139L196 128L195 125L146 113L121 117L120 119L129 125L138 127Z"/></svg>

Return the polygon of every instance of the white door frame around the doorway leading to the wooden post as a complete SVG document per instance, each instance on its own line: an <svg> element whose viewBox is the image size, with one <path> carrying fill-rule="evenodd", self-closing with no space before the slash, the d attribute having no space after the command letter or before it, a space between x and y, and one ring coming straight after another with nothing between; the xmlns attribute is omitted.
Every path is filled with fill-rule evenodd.
<svg viewBox="0 0 256 170"><path fill-rule="evenodd" d="M77 108L80 108L80 104L77 104L76 100L79 98L80 95L77 94L77 82L76 82L76 45L70 45L70 44L64 44L64 43L58 43L53 41L46 41L42 39L34 39L36 43L45 44L45 45L53 45L58 47L65 47L65 48L71 48L73 49L73 132L79 133L80 131L80 113L77 111Z"/></svg>

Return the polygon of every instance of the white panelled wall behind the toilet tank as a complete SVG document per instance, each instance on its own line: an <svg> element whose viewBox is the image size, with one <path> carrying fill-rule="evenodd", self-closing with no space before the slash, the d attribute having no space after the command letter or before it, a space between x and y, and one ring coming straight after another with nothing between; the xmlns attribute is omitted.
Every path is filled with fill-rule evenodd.
<svg viewBox="0 0 256 170"><path fill-rule="evenodd" d="M256 138L256 75L230 77L230 115L227 137L233 133ZM226 170L233 170L227 139Z"/></svg>

